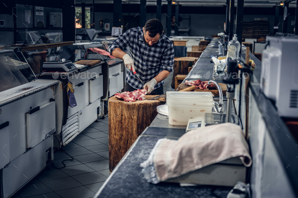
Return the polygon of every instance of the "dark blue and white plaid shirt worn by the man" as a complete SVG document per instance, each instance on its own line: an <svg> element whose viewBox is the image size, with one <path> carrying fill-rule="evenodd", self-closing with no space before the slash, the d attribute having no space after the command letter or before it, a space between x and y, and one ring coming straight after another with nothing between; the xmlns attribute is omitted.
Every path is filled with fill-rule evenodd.
<svg viewBox="0 0 298 198"><path fill-rule="evenodd" d="M155 46L146 45L143 35L143 29L140 27L129 29L111 43L109 52L112 54L112 51L117 47L123 50L129 46L136 71L135 75L138 75L143 83L147 83L163 70L173 71L174 47L172 41L164 34ZM126 74L127 83L135 89L143 89L142 83L135 75L132 71L128 71ZM154 89L163 84L163 81L159 82Z"/></svg>

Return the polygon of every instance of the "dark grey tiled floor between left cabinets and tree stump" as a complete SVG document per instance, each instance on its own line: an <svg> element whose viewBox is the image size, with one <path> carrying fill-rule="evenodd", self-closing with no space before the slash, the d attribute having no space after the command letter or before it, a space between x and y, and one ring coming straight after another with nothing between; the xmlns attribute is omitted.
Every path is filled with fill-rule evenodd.
<svg viewBox="0 0 298 198"><path fill-rule="evenodd" d="M171 88L173 72L164 81L164 93ZM109 128L108 117L93 122L64 150L74 158L65 161L65 168L46 167L21 190L15 198L89 198L100 189L109 176ZM54 154L54 165L62 167L62 161L71 159L64 152Z"/></svg>

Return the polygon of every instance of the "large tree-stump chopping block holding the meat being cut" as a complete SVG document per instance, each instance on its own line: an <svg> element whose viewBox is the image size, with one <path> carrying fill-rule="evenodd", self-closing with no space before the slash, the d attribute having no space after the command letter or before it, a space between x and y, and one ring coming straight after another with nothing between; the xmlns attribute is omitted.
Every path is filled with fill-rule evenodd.
<svg viewBox="0 0 298 198"><path fill-rule="evenodd" d="M146 99L158 95L146 95ZM137 100L125 102L115 96L109 99L109 169L112 172L122 157L157 116L160 100Z"/></svg>

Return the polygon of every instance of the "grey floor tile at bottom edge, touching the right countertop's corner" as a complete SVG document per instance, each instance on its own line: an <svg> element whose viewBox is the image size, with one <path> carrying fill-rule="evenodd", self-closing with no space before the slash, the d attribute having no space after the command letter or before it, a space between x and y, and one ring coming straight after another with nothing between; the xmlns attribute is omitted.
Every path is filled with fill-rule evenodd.
<svg viewBox="0 0 298 198"><path fill-rule="evenodd" d="M66 190L60 190L60 191L57 191L57 193L62 198L74 198L74 197L89 198L95 195L95 193L92 190L90 190L85 186L70 188Z"/></svg>

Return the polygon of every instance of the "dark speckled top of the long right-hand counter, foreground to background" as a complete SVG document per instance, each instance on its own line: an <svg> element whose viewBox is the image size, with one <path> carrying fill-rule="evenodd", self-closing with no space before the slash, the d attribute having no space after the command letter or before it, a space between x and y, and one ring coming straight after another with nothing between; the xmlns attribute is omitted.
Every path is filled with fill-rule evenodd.
<svg viewBox="0 0 298 198"><path fill-rule="evenodd" d="M197 73L197 68L200 70L200 67L205 66L200 59L185 80L197 80L191 77ZM210 58L208 63L212 67L208 67L206 71L212 73L213 63L210 62ZM234 108L232 114L235 114ZM208 185L180 187L178 183L154 185L143 178L139 164L145 161L156 142L162 138L178 140L185 134L185 129L186 126L170 125L167 116L158 114L151 125L137 138L94 197L117 197L119 194L121 197L226 197L231 187Z"/></svg>

